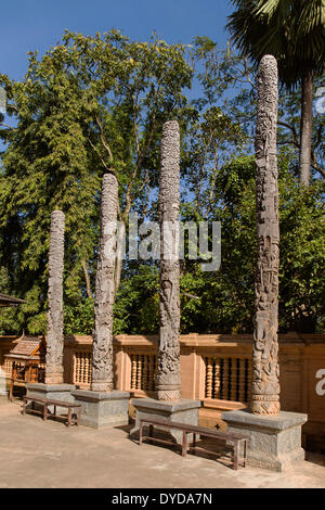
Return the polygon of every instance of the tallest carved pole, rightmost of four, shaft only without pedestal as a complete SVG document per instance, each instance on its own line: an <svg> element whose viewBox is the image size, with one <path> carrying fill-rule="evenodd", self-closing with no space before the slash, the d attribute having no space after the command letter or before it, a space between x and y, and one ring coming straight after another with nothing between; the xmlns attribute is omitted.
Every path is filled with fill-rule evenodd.
<svg viewBox="0 0 325 510"><path fill-rule="evenodd" d="M277 63L262 58L258 72L256 186L258 262L251 412L278 415L278 191L277 191Z"/></svg>

